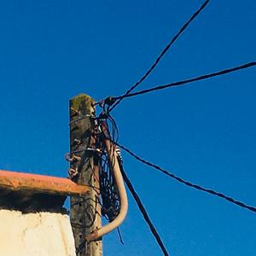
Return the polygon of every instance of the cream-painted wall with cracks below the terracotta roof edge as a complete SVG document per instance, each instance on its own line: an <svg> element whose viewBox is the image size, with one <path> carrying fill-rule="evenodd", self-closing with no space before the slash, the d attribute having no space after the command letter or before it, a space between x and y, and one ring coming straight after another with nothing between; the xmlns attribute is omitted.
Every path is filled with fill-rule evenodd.
<svg viewBox="0 0 256 256"><path fill-rule="evenodd" d="M0 210L0 255L75 256L67 214Z"/></svg>

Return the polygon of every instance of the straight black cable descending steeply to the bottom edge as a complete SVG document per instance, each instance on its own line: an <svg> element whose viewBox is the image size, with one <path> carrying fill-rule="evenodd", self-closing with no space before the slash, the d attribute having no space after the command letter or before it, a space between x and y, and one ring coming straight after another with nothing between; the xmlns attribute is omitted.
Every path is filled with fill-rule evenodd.
<svg viewBox="0 0 256 256"><path fill-rule="evenodd" d="M127 188L130 190L131 192L131 195L133 196L134 200L136 201L137 203L137 207L139 207L140 211L142 212L143 214L143 218L145 219L145 221L147 222L148 226L149 226L149 229L151 230L153 236L155 237L157 243L159 244L162 252L164 253L165 256L169 256L169 253L167 252L166 250L166 247L163 243L163 241L161 240L159 234L157 233L157 230L155 230L154 228L154 224L152 223L152 221L150 220L149 216L148 216L148 212L146 211L145 207L143 207L143 203L142 201L140 200L139 196L137 195L137 192L136 190L133 188L132 184L131 184L131 181L129 180L129 178L127 177L126 173L125 173L125 170L122 166L121 163L119 163L119 166L120 166L120 171L122 172L122 176L124 178L124 181L127 185Z"/></svg>

